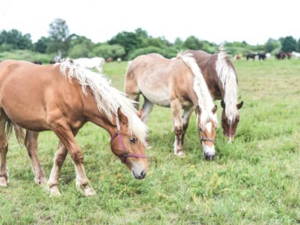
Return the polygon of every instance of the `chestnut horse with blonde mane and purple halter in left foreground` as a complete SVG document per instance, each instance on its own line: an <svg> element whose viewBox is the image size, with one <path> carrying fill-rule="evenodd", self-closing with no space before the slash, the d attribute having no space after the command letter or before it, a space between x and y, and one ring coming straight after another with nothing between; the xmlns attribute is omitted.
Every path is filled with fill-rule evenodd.
<svg viewBox="0 0 300 225"><path fill-rule="evenodd" d="M5 124L15 127L21 139L26 129L25 146L30 156L35 182L46 177L37 158L39 131L53 130L59 138L49 176L50 194L59 195L59 171L67 151L75 166L76 186L85 196L95 192L83 168L83 154L74 136L90 121L103 127L111 136L114 154L131 169L137 179L147 172L142 140L145 125L138 118L131 99L111 87L101 75L72 65L69 61L55 65L36 65L26 61L5 60L0 63L0 185L6 186L7 134Z"/></svg>

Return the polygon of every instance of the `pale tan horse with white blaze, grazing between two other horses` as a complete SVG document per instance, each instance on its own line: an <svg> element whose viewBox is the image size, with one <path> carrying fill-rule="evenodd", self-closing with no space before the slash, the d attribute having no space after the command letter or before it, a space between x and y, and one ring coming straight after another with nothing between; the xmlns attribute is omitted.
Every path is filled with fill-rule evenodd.
<svg viewBox="0 0 300 225"><path fill-rule="evenodd" d="M144 97L141 120L146 123L153 104L170 107L175 132L174 154L183 156L183 138L189 117L196 109L198 135L205 158L215 156L216 110L194 58L178 54L175 59L151 53L136 57L126 72L125 92L134 100ZM183 108L183 116L181 109ZM149 146L145 139L145 145Z"/></svg>

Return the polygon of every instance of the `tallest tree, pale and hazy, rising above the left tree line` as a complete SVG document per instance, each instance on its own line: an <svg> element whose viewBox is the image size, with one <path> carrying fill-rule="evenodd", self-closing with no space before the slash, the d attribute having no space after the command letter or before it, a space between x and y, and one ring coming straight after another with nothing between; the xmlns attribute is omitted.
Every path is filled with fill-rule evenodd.
<svg viewBox="0 0 300 225"><path fill-rule="evenodd" d="M61 50L63 55L67 54L69 48L69 29L65 20L61 18L54 19L49 24L49 42L47 52L56 52Z"/></svg>

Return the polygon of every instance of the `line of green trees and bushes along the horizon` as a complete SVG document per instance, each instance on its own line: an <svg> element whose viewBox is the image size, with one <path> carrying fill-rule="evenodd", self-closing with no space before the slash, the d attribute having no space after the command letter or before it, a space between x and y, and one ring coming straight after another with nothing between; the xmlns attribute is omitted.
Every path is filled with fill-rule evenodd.
<svg viewBox="0 0 300 225"><path fill-rule="evenodd" d="M225 42L224 47L231 54L279 51L300 52L300 38L296 40L292 36L269 38L264 44L250 45L246 41ZM49 24L48 36L40 37L32 42L29 33L22 34L16 29L0 31L0 52L13 51L15 49L27 49L39 53L54 54L58 50L63 57L93 57L101 56L105 59L111 57L116 59L130 60L140 54L156 52L165 57L173 57L177 50L195 49L214 53L218 45L214 42L201 40L191 35L185 40L177 37L170 42L162 37L152 37L142 28L132 32L121 31L106 42L94 43L89 38L75 33L70 34L66 21L61 18L54 19Z"/></svg>

